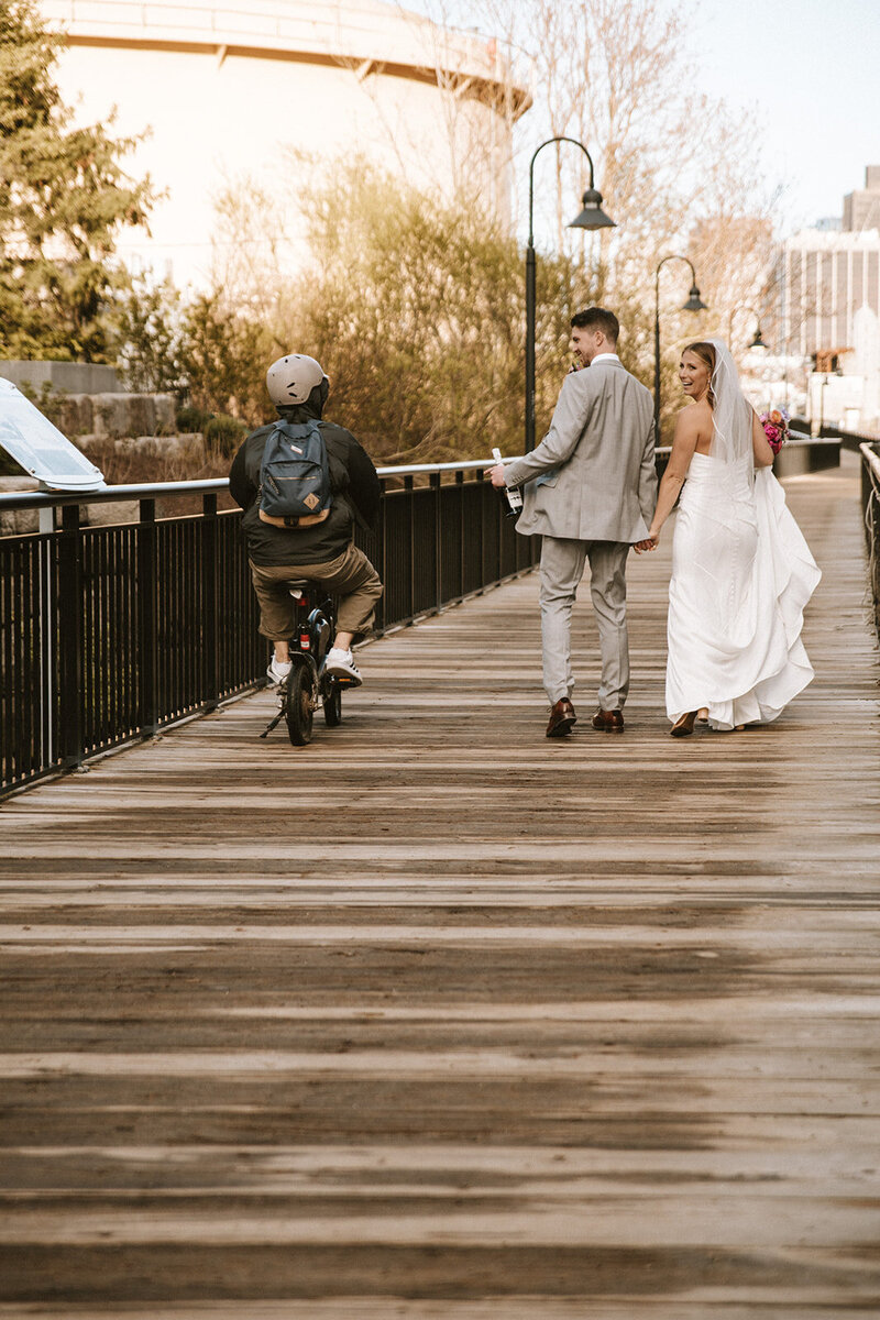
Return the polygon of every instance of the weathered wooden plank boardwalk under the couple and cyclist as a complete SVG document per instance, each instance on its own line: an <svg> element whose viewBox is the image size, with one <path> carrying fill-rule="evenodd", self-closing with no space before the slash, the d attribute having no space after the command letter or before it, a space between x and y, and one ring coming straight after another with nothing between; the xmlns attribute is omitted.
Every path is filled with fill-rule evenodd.
<svg viewBox="0 0 880 1320"><path fill-rule="evenodd" d="M876 1320L880 668L854 461L788 491L774 726L666 737L666 544L621 738L526 578L0 810L0 1317Z"/></svg>

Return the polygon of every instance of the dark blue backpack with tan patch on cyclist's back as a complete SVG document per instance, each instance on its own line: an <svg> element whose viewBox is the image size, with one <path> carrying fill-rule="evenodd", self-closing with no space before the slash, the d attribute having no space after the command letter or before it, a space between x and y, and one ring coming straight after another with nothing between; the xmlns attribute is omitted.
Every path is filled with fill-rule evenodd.
<svg viewBox="0 0 880 1320"><path fill-rule="evenodd" d="M277 421L267 436L260 463L260 517L296 519L307 527L323 521L331 503L321 426L311 420Z"/></svg>

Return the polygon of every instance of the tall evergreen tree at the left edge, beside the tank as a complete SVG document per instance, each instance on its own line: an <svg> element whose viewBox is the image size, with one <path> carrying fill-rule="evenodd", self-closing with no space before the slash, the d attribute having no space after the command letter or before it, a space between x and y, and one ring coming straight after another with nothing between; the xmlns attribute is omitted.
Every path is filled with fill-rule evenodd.
<svg viewBox="0 0 880 1320"><path fill-rule="evenodd" d="M0 352L112 362L113 302L128 275L115 246L156 194L127 177L140 139L82 123L55 83L65 38L36 0L0 5ZM74 120L77 123L74 123Z"/></svg>

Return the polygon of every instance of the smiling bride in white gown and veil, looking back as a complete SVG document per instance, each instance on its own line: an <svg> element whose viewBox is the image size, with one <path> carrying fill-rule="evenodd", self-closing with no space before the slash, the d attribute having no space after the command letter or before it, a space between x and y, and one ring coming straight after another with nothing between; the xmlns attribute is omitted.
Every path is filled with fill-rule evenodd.
<svg viewBox="0 0 880 1320"><path fill-rule="evenodd" d="M691 403L678 414L649 537L636 549L657 548L681 491L666 714L672 735L683 738L697 721L739 730L776 719L810 682L801 627L821 573L770 471L773 450L727 346L689 345L678 375Z"/></svg>

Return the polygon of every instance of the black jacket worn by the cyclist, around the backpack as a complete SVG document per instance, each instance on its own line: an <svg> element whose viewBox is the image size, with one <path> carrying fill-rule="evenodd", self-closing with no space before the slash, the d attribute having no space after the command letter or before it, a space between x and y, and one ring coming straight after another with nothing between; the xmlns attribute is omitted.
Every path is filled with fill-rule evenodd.
<svg viewBox="0 0 880 1320"><path fill-rule="evenodd" d="M280 408L285 421L303 422L319 417L309 404ZM244 441L230 469L230 494L244 510L248 556L264 568L288 564L329 564L338 558L355 535L355 523L371 531L379 513L380 484L369 455L344 426L322 421L332 506L330 517L314 527L282 528L263 523L260 510L260 463L272 425L260 426Z"/></svg>

